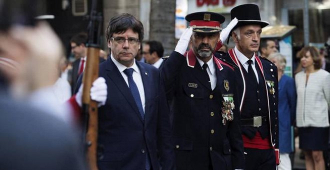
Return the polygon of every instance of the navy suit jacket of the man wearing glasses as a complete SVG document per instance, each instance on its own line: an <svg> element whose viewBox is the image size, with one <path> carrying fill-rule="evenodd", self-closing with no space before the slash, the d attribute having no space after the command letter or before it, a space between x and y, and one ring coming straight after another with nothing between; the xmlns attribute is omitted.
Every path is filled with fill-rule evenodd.
<svg viewBox="0 0 330 170"><path fill-rule="evenodd" d="M144 169L146 152L152 169L174 166L168 108L159 71L147 63L136 64L144 87L144 120L111 58L99 65L99 76L105 78L108 89L106 103L98 111L98 144L104 148L103 158L98 161L100 170Z"/></svg>

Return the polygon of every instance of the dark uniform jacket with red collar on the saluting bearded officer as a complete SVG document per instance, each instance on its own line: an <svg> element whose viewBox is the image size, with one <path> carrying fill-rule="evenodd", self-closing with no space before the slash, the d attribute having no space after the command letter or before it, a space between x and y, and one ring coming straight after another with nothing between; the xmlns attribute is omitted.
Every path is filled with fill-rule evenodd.
<svg viewBox="0 0 330 170"><path fill-rule="evenodd" d="M233 69L213 57L216 86L208 87L192 51L173 51L161 69L173 114L176 169L244 169L239 104ZM225 87L226 85L227 88ZM233 120L222 123L223 96L232 94Z"/></svg>

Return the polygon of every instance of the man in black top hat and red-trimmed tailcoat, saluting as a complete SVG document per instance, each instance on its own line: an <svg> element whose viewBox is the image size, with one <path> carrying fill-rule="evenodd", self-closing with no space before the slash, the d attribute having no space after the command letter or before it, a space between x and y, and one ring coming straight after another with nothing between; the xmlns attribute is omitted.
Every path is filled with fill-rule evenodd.
<svg viewBox="0 0 330 170"><path fill-rule="evenodd" d="M261 28L268 22L260 19L255 4L238 5L230 13L232 19L238 19L231 29L235 47L228 53L217 54L236 67L245 169L276 169L279 163L277 68L257 56Z"/></svg>

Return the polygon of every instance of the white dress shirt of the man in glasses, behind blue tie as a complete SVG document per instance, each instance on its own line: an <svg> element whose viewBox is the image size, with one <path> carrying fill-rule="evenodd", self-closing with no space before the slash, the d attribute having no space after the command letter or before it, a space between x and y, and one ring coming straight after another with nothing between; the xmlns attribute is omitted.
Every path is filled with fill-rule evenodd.
<svg viewBox="0 0 330 170"><path fill-rule="evenodd" d="M111 54L111 60L113 61L113 63L115 64L115 66L117 66L119 72L121 73L121 76L124 78L127 86L128 85L128 78L127 75L123 72L126 68L125 65L122 65L121 63L119 63L117 60L115 60ZM138 66L135 63L135 59L134 59L134 63L132 66L130 66L129 68L133 68L133 80L137 86L138 92L140 94L140 98L141 98L141 102L142 102L142 107L143 107L143 112L145 111L145 95L144 95L144 88L143 88L143 82L142 82L142 77L141 77L141 73L140 73L140 69L138 68Z"/></svg>

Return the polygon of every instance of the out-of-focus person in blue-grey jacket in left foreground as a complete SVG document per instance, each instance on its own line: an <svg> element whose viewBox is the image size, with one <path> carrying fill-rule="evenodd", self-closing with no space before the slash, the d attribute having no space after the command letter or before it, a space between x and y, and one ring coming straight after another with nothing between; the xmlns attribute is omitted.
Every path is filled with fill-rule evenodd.
<svg viewBox="0 0 330 170"><path fill-rule="evenodd" d="M56 81L62 55L34 2L0 0L0 169L85 169L71 126L22 100Z"/></svg>

